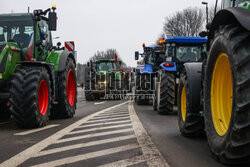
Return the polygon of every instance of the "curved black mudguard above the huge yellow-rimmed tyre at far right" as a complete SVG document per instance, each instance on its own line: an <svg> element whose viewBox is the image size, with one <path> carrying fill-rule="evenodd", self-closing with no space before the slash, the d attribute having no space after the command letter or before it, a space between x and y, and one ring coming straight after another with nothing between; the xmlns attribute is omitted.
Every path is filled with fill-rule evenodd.
<svg viewBox="0 0 250 167"><path fill-rule="evenodd" d="M214 17L209 28L209 38L213 39L214 31L220 25L240 24L246 30L250 31L250 11L242 7L234 7L220 10ZM210 42L208 42L208 45ZM208 47L210 48L210 46Z"/></svg>

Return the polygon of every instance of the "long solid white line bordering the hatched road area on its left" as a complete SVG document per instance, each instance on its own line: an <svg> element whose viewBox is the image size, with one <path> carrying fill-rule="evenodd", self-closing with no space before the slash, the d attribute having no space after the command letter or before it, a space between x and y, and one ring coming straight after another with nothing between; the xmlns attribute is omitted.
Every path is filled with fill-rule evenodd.
<svg viewBox="0 0 250 167"><path fill-rule="evenodd" d="M109 111L111 109L114 109L116 107L122 106L124 104L128 103L124 102L109 108L106 108L104 110L101 110L99 112L96 112L94 114L91 114L87 117L84 117L83 119L69 125L68 127L58 131L57 133L53 134L52 136L40 141L39 143L27 148L26 150L20 152L19 154L11 157L10 159L4 161L3 163L0 164L1 167L12 167L12 166L18 166L21 163L23 163L24 161L26 161L29 158L32 158L34 155L38 154L41 150L43 150L44 148L48 147L51 144L54 144L58 139L60 139L61 137L63 137L65 134L68 134L70 131L72 131L73 129L75 129L76 127L80 126L81 124L85 123L86 121L88 121L89 119L104 113L106 111Z"/></svg>

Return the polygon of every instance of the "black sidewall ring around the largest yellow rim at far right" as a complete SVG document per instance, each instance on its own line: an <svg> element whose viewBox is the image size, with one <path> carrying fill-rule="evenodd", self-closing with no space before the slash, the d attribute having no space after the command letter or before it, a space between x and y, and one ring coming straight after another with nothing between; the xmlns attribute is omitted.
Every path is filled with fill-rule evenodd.
<svg viewBox="0 0 250 167"><path fill-rule="evenodd" d="M206 127L206 135L208 139L208 144L210 145L210 149L212 153L215 153L216 155L219 155L222 153L223 150L227 147L227 140L230 138L230 134L232 131L232 123L234 120L234 112L235 111L235 70L234 65L232 62L233 56L232 56L232 50L230 46L230 41L223 36L218 35L214 41L212 42L212 46L210 49L210 54L207 60L206 65L206 72L205 72L205 84L204 84L204 107L205 107L205 127ZM231 120L229 124L228 131L224 136L218 135L218 133L215 130L215 127L213 125L213 118L212 118L212 112L211 112L211 81L212 81L212 75L213 75L213 69L215 62L221 53L226 53L228 55L231 69L232 69L232 81L233 81L233 106L232 106L232 114L231 114Z"/></svg>

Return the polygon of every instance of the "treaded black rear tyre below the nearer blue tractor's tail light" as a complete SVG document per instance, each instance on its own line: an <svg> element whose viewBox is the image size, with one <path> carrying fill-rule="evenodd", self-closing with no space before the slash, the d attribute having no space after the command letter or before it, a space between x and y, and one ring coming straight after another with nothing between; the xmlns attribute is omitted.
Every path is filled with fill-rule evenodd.
<svg viewBox="0 0 250 167"><path fill-rule="evenodd" d="M157 111L159 114L172 114L175 104L175 76L173 73L161 74L157 90Z"/></svg>

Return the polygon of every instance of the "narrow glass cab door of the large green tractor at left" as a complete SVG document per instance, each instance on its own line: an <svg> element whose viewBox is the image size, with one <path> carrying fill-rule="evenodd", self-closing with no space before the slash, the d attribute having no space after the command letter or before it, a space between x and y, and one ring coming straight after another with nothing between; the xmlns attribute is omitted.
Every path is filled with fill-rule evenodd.
<svg viewBox="0 0 250 167"><path fill-rule="evenodd" d="M37 60L45 61L52 46L51 32L45 20L40 20L37 24Z"/></svg>

